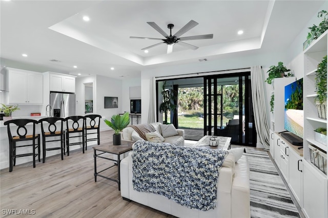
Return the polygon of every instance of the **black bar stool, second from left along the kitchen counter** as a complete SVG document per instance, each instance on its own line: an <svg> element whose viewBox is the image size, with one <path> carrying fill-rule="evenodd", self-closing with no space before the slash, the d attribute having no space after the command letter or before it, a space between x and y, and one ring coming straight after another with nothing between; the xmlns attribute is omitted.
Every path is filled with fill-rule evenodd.
<svg viewBox="0 0 328 218"><path fill-rule="evenodd" d="M46 162L46 151L59 150L61 154L61 160L64 160L65 150L65 132L63 130L64 118L61 117L47 117L39 120L41 124L42 132L42 162ZM49 125L48 128L45 125ZM57 126L56 126L57 124ZM57 128L59 131L57 131ZM55 139L55 136L59 136L60 139ZM46 141L46 138L52 137L51 140ZM46 142L60 141L60 147L46 148Z"/></svg>

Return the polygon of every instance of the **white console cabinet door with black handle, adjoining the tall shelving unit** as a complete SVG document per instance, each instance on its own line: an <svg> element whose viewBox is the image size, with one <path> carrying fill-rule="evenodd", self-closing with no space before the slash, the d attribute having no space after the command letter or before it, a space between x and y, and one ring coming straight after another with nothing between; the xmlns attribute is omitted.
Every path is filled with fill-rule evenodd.
<svg viewBox="0 0 328 218"><path fill-rule="evenodd" d="M289 153L289 186L298 204L302 206L302 162L303 158L292 149Z"/></svg>

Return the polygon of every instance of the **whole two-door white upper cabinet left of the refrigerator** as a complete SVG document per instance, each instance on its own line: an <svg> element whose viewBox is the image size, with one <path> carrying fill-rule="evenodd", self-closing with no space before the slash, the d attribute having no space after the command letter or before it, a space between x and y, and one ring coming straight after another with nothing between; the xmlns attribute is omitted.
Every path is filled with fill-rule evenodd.
<svg viewBox="0 0 328 218"><path fill-rule="evenodd" d="M42 105L43 75L9 67L8 70L9 104Z"/></svg>

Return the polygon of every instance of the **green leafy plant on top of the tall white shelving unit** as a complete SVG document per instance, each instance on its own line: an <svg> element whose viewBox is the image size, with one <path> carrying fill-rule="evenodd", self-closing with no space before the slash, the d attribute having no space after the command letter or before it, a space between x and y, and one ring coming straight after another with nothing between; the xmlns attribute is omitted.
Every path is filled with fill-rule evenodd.
<svg viewBox="0 0 328 218"><path fill-rule="evenodd" d="M309 47L312 41L319 38L322 33L328 30L328 12L325 10L319 11L318 17L322 17L322 21L319 23L318 26L313 25L312 27L309 27L310 32L308 33L308 36L306 36L306 41L303 43L303 50Z"/></svg>

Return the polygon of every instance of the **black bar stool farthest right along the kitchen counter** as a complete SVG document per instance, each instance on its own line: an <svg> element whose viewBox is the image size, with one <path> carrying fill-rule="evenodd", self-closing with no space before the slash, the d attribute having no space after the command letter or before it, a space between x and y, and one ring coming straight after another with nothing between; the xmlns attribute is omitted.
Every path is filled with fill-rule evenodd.
<svg viewBox="0 0 328 218"><path fill-rule="evenodd" d="M86 150L88 141L97 140L98 145L100 144L100 118L101 115L90 114L85 117L85 129L86 129ZM88 138L88 135L97 134L96 138Z"/></svg>

